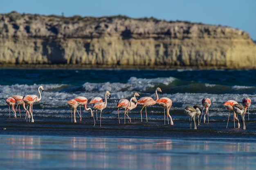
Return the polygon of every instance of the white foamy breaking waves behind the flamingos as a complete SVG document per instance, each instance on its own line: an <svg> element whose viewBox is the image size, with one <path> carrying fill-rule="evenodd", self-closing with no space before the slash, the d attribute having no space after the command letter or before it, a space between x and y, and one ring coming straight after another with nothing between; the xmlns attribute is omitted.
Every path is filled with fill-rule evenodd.
<svg viewBox="0 0 256 170"><path fill-rule="evenodd" d="M85 96L90 99L95 96L104 98L104 93L106 90L109 90L111 93L111 98L108 100L107 110L109 113L116 114L117 102L121 98L127 98L133 96L135 92L138 92L141 97L150 96L155 99L154 88L158 85L168 87L173 81L177 80L173 77L167 78L137 78L130 77L127 83L89 83L85 82L81 87L72 87L67 84L42 84L44 87L44 92L42 94L42 100L36 103L35 113L42 113L42 116L45 116L45 113L50 114L55 117L62 117L64 113L65 116L70 116L70 108L67 106L67 101L75 98L76 96ZM205 83L206 87L216 87L218 85ZM26 94L38 94L39 84L34 85L0 85L0 109L1 113L9 114L8 106L5 102L5 99L12 95L21 95ZM233 90L239 89L249 89L255 88L250 86L233 86ZM76 90L79 89L79 90ZM145 91L151 91L151 93L146 93ZM164 92L164 91L163 91ZM175 94L158 94L159 98L168 97L173 101L173 109L182 110L187 105L193 106L195 104L202 107L202 99L207 97L211 99L211 111L215 115L227 114L227 109L223 106L223 103L227 100L233 99L242 102L242 99L245 97L251 98L252 102L256 101L256 96L251 94L208 94L208 93L175 93ZM92 107L92 105L88 105ZM38 109L39 108L39 109ZM139 109L141 107L138 106ZM148 113L160 113L162 112L162 107L159 105L151 106L152 109L148 110ZM250 111L253 111L255 106L252 104ZM137 110L139 110L137 109ZM153 110L154 109L154 110ZM106 110L105 110L106 111ZM44 113L45 112L45 113ZM24 111L22 112L24 114ZM87 112L86 112L87 113ZM39 116L39 115L38 115Z"/></svg>

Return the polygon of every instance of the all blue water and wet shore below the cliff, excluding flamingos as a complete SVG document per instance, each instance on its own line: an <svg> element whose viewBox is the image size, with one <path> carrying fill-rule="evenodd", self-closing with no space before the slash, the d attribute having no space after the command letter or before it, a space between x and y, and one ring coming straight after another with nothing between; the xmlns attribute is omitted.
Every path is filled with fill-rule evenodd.
<svg viewBox="0 0 256 170"><path fill-rule="evenodd" d="M140 170L240 170L256 166L256 70L138 70L138 69L0 69L0 168L27 169L140 169ZM42 99L33 106L34 123L13 113L5 99L13 95L38 94ZM117 102L128 100L135 92L140 97L173 101L170 114L174 125L164 124L164 108L158 104L129 111L131 122ZM82 109L82 120L71 122L67 101L84 96L111 93L102 111L102 125L90 111ZM246 130L238 129L233 113L224 102L249 97ZM200 122L190 129L186 106L200 105L210 98L209 123ZM92 105L87 105L92 107ZM79 108L78 108L79 109ZM248 112L248 110L247 110ZM240 118L239 118L240 119ZM227 126L227 128L226 128Z"/></svg>

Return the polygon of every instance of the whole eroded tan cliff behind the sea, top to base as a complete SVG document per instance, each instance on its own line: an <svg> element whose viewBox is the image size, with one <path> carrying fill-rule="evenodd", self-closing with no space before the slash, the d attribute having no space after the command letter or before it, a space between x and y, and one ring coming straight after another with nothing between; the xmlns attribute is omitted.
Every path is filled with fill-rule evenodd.
<svg viewBox="0 0 256 170"><path fill-rule="evenodd" d="M256 44L225 26L13 12L0 14L0 63L255 68Z"/></svg>

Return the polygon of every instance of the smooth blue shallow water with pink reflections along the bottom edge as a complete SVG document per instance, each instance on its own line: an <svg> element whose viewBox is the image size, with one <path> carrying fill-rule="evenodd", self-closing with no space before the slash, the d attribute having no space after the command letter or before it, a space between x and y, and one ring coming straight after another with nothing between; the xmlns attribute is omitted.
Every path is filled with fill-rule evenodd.
<svg viewBox="0 0 256 170"><path fill-rule="evenodd" d="M211 169L256 166L255 142L0 135L1 169Z"/></svg>

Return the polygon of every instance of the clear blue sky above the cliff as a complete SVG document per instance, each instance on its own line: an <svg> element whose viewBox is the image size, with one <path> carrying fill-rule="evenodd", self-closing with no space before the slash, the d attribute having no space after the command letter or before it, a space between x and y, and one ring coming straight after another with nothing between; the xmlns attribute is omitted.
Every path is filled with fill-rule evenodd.
<svg viewBox="0 0 256 170"><path fill-rule="evenodd" d="M0 13L155 17L231 26L256 40L256 0L0 0Z"/></svg>

